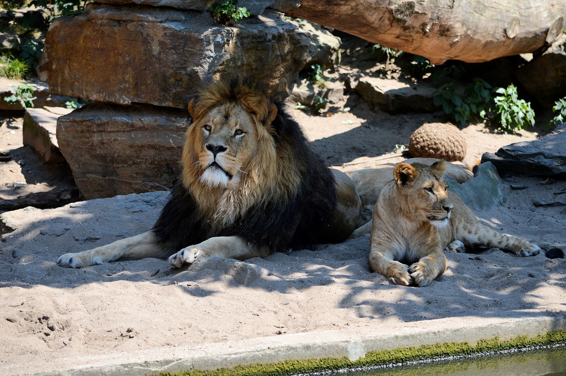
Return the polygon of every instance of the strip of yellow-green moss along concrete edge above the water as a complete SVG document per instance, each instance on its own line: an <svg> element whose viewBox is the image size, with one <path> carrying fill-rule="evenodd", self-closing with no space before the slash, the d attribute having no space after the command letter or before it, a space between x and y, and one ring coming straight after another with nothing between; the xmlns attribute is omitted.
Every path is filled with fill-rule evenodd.
<svg viewBox="0 0 566 376"><path fill-rule="evenodd" d="M480 340L473 346L468 342L424 345L420 347L405 347L393 350L368 352L365 357L356 361L348 358L321 358L308 360L288 360L273 364L254 364L221 368L212 371L184 371L179 373L161 373L160 376L280 376L305 374L341 369L358 369L371 366L400 364L445 358L451 356L466 356L479 353L491 353L510 349L529 348L566 343L566 331L548 332L529 338L518 336L511 340L500 341L498 337Z"/></svg>

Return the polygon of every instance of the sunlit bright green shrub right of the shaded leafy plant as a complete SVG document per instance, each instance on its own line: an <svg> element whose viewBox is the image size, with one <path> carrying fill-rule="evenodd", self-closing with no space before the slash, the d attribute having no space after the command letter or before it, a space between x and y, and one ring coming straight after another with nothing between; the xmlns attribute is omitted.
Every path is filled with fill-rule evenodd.
<svg viewBox="0 0 566 376"><path fill-rule="evenodd" d="M518 99L517 87L513 84L507 89L498 88L496 93L501 94L494 98L495 110L492 122L503 133L513 133L514 129L521 130L530 124L534 125L534 111L530 102Z"/></svg>

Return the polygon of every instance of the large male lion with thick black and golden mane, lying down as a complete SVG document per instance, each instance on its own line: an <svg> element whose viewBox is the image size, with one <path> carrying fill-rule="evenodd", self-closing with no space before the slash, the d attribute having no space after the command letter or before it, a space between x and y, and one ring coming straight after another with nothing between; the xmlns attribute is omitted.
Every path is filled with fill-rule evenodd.
<svg viewBox="0 0 566 376"><path fill-rule="evenodd" d="M81 268L119 258L245 260L289 247L337 243L361 201L346 174L327 168L282 104L257 84L215 82L188 104L192 124L174 186L153 229L57 260Z"/></svg>

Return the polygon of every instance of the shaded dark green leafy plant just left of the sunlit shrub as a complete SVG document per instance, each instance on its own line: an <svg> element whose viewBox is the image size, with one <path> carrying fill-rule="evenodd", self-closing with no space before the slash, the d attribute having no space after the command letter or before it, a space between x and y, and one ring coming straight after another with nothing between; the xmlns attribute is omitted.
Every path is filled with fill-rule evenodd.
<svg viewBox="0 0 566 376"><path fill-rule="evenodd" d="M491 86L481 78L466 85L464 96L456 93L456 84L447 83L434 92L434 104L456 122L464 124L472 117L483 119L490 111Z"/></svg>

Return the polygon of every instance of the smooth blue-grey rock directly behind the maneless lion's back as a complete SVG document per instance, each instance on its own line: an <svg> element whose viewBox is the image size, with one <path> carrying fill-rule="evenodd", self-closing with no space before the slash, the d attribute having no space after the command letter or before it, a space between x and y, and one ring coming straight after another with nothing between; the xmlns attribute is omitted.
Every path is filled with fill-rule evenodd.
<svg viewBox="0 0 566 376"><path fill-rule="evenodd" d="M501 192L501 178L489 162L474 166L474 176L464 183L444 175L448 190L456 193L471 210L486 210L503 205L507 199Z"/></svg>

